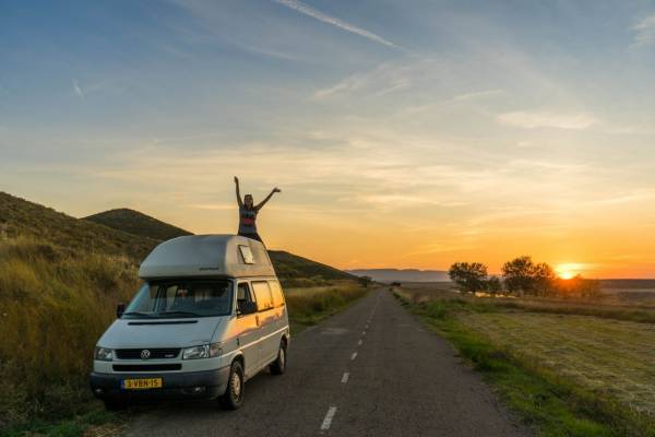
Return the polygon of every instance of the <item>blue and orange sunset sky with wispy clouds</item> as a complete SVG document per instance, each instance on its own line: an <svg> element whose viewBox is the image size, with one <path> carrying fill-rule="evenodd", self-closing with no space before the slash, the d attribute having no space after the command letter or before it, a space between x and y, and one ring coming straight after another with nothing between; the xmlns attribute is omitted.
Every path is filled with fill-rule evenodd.
<svg viewBox="0 0 655 437"><path fill-rule="evenodd" d="M655 277L655 2L0 0L0 190L342 268Z"/></svg>

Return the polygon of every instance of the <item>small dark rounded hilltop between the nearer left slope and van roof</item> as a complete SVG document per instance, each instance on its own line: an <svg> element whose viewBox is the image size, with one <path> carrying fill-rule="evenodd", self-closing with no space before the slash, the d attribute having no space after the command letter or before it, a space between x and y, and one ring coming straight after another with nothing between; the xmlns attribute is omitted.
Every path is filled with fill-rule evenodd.
<svg viewBox="0 0 655 437"><path fill-rule="evenodd" d="M156 240L167 240L182 235L192 235L189 231L169 225L155 217L127 208L100 212L84 217L84 220Z"/></svg>

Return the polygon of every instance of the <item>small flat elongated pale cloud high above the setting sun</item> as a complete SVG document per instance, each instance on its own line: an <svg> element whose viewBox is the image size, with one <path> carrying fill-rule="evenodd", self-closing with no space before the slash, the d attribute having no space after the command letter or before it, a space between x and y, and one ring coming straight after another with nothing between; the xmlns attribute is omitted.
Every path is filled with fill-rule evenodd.
<svg viewBox="0 0 655 437"><path fill-rule="evenodd" d="M556 128L570 130L584 130L596 122L588 114L553 114L514 111L499 114L496 120L502 125L524 129Z"/></svg>

